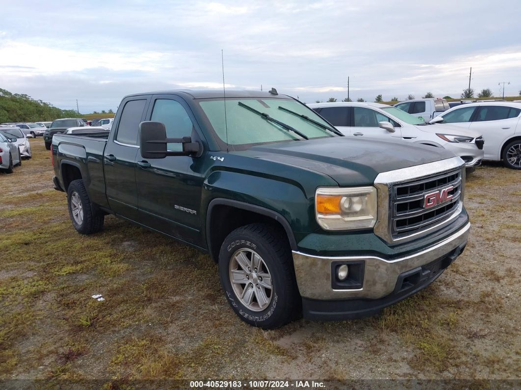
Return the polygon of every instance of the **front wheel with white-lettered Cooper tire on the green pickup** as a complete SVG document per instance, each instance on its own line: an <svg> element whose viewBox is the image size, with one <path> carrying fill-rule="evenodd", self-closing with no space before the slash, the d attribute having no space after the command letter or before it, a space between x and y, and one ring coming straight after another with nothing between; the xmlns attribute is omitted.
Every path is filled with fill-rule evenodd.
<svg viewBox="0 0 521 390"><path fill-rule="evenodd" d="M225 238L219 252L219 275L228 303L241 320L262 329L279 328L302 313L291 250L283 237L266 224L245 225Z"/></svg>

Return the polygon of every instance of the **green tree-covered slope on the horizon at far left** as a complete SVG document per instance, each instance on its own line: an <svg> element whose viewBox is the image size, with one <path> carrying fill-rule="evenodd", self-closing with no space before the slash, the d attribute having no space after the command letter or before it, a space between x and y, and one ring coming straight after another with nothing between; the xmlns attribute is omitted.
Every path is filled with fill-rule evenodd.
<svg viewBox="0 0 521 390"><path fill-rule="evenodd" d="M14 94L0 88L0 123L52 121L70 117L78 117L78 112L62 110L29 95Z"/></svg>

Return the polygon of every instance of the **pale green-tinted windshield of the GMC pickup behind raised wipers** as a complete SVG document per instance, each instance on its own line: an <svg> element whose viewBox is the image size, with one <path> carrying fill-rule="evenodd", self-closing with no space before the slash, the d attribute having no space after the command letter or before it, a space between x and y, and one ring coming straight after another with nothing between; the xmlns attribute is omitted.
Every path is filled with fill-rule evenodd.
<svg viewBox="0 0 521 390"><path fill-rule="evenodd" d="M283 122L301 132L308 139L336 136L332 132L321 128L315 123L279 108L280 106L298 114L306 115L316 122L330 127L330 124L320 118L315 111L295 100L227 98L226 122L223 99L202 100L199 105L203 109L210 124L212 124L216 135L225 144L227 139L228 145L252 145L278 141L303 140L303 137L299 134L293 131L288 131L288 129L285 129L282 125L273 121L266 120L261 115L239 105L239 103L247 105L259 112L268 114L271 118Z"/></svg>

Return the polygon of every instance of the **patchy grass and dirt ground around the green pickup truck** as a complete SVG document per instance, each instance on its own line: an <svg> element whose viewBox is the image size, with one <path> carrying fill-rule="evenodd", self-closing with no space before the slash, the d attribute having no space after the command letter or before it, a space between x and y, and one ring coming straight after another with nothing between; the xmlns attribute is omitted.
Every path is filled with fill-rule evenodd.
<svg viewBox="0 0 521 390"><path fill-rule="evenodd" d="M31 147L0 174L0 379L521 379L521 171L469 175L470 241L420 294L262 331L233 314L208 256L112 216L77 234L42 139Z"/></svg>

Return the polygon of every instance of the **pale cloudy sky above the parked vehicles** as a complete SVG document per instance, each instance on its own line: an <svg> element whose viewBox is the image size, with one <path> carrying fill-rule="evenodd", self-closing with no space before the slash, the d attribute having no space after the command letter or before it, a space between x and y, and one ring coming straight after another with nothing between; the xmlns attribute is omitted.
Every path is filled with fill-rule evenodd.
<svg viewBox="0 0 521 390"><path fill-rule="evenodd" d="M0 88L63 109L269 90L306 103L521 90L521 1L0 0Z"/></svg>

